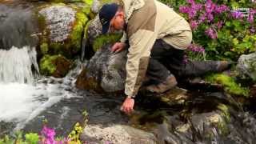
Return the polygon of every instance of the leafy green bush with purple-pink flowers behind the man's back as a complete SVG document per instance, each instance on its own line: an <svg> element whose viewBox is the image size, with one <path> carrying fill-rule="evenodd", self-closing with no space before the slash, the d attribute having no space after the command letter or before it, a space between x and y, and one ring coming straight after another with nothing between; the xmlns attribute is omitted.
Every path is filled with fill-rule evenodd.
<svg viewBox="0 0 256 144"><path fill-rule="evenodd" d="M246 1L187 0L185 5L179 6L179 12L190 22L193 30L189 57L196 60L206 58L236 61L241 54L255 51L254 5ZM245 6L246 11L236 10L242 6Z"/></svg>

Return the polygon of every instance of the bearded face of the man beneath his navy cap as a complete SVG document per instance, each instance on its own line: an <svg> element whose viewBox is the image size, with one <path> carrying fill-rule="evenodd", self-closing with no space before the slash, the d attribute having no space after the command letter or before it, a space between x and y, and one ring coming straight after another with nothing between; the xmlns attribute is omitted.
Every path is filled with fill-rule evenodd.
<svg viewBox="0 0 256 144"><path fill-rule="evenodd" d="M117 14L114 15L114 18L112 18L110 21L110 32L114 32L114 30L123 30L124 26L124 13L122 11L118 11Z"/></svg>

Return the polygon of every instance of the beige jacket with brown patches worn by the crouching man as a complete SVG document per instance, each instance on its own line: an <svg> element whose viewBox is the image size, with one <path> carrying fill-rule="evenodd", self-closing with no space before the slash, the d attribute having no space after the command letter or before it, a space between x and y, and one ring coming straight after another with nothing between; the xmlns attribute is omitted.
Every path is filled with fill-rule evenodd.
<svg viewBox="0 0 256 144"><path fill-rule="evenodd" d="M190 25L170 7L156 0L122 0L126 14L126 37L130 48L126 62L125 94L135 96L146 74L150 50L162 38L177 49L189 46Z"/></svg>

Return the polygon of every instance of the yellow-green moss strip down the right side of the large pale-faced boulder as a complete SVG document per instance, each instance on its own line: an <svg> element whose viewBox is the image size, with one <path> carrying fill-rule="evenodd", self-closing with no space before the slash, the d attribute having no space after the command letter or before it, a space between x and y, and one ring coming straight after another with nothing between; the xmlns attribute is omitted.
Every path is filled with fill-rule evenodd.
<svg viewBox="0 0 256 144"><path fill-rule="evenodd" d="M82 12L77 12L76 14L76 22L74 24L73 30L70 34L71 46L75 49L74 51L80 50L81 41L82 41L82 32L84 30L84 26L86 26L86 22L88 22L88 18Z"/></svg>

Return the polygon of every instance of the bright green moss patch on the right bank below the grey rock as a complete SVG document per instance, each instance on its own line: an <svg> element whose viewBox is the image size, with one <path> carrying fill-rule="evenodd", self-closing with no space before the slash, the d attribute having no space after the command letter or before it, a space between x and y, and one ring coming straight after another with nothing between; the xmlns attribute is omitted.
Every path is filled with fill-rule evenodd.
<svg viewBox="0 0 256 144"><path fill-rule="evenodd" d="M226 74L210 74L206 76L206 81L211 83L218 83L224 87L227 93L249 96L249 89L242 87L240 84L235 82L234 78Z"/></svg>

